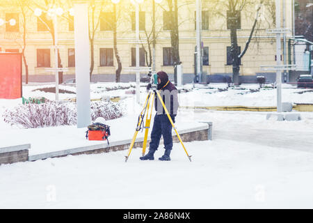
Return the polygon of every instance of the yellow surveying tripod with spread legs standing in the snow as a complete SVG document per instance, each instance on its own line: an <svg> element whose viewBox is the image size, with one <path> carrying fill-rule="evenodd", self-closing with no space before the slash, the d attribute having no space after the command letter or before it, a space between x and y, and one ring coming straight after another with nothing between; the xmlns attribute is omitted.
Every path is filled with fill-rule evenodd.
<svg viewBox="0 0 313 223"><path fill-rule="evenodd" d="M128 158L129 158L129 155L131 154L131 150L134 146L134 143L136 141L136 137L137 137L137 134L138 132L142 129L142 128L145 128L145 137L143 139L143 156L145 155L145 148L147 148L147 136L148 136L148 132L149 132L149 128L150 128L150 123L151 123L151 117L152 117L152 111L153 111L153 104L154 104L154 97L155 97L155 94L157 93L157 96L159 98L159 100L161 101L161 104L164 108L164 111L166 112L167 116L168 116L168 119L170 120L170 123L172 124L172 128L175 130L176 134L177 134L177 137L180 141L180 143L182 144L182 147L184 148L184 151L186 152L187 156L188 156L188 159L191 161L191 155L188 155L187 151L186 151L186 148L182 142L182 139L180 138L176 128L175 128L175 125L174 123L172 122L172 118L170 117L170 114L168 113L168 109L166 109L166 106L164 105L164 102L161 98L161 95L159 93L159 91L157 90L150 90L148 95L147 95L147 98L145 100L145 104L143 106L143 109L141 110L141 114L138 116L138 123L137 123L137 127L136 127L136 131L134 133L134 137L133 139L131 140L131 144L129 146L129 150L128 150L128 153L127 153L127 156L125 156L125 162L127 162ZM151 111L150 111L150 114L148 114L149 112L149 108L150 108L150 103L152 104L151 105ZM146 114L147 112L147 114ZM143 119L145 118L145 115L146 115L146 121L145 121L145 127L143 127Z"/></svg>

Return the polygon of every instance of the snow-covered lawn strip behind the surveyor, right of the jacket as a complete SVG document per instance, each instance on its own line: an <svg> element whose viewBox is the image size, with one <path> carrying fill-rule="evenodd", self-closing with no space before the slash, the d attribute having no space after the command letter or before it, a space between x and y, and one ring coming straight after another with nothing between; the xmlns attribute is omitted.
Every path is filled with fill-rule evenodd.
<svg viewBox="0 0 313 223"><path fill-rule="evenodd" d="M181 106L276 106L277 89L260 89L257 85L243 85L246 89L232 89L225 91L225 84L215 84L214 89L193 89L193 91L179 95ZM313 104L313 91L310 89L282 89L282 102L311 103Z"/></svg>

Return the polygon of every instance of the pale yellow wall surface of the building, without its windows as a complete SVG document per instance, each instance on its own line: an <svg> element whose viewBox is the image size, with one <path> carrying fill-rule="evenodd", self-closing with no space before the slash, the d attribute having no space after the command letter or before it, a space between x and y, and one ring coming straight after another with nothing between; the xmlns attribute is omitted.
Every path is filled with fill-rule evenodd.
<svg viewBox="0 0 313 223"><path fill-rule="evenodd" d="M152 0L151 0L152 1ZM274 1L274 0L273 0ZM121 1L122 2L122 1ZM204 72L207 74L216 73L232 73L232 66L227 66L227 50L230 46L230 31L226 26L226 10L221 3L218 8L214 3L216 1L202 1L202 10L209 10L209 30L202 31L202 42L204 47L209 47L209 66L204 66ZM227 2L226 0L220 2ZM274 1L275 2L275 1ZM182 7L179 8L179 55L182 61L184 73L192 74L194 72L194 49L195 49L195 1L179 1ZM34 6L35 7L35 6ZM118 11L120 16L118 22L118 52L121 56L123 68L131 66L131 47L136 47L134 43L135 31L131 31L131 11L134 11L134 6L121 5ZM255 17L256 3L247 7L241 13L241 29L237 31L238 43L241 50L244 49L252 22ZM97 7L96 7L97 8ZM164 70L168 73L173 72L172 66L163 66L163 47L170 47L170 32L163 31L163 8L167 8L166 1L157 5L157 45L156 45L156 67L157 70ZM145 10L146 30L148 33L152 30L152 4L146 0L141 9ZM111 11L111 6L106 6L104 11ZM220 13L216 11L220 10ZM266 33L266 29L273 29L274 24L271 20L271 11L268 8L262 8L262 13L258 25L257 37L252 38L248 51L241 59L241 75L255 75L261 72L260 66L275 64L275 36ZM0 18L5 18L5 13L19 13L17 8L10 6L0 7ZM99 15L99 10L96 10L96 17ZM291 0L286 1L286 24L287 28L291 29ZM29 11L27 15L27 46L26 59L29 65L30 75L47 75L49 72L45 68L37 68L37 49L49 49L52 43L51 33L48 31L37 31L37 17ZM19 49L22 52L22 15L19 18L19 29L21 33L6 32L5 26L0 26L0 47L4 52L5 49ZM141 38L145 38L144 31L141 31ZM68 21L64 18L58 19L58 42L62 47L60 49L61 61L63 67L68 66L67 50L74 48L74 32L68 31ZM147 45L145 44L145 47ZM95 66L93 74L115 74L117 61L114 56L114 66L100 67L99 66L99 51L100 48L113 48L113 32L100 31L99 27L95 34ZM86 52L89 53L89 52ZM50 51L51 66L54 65L54 50ZM23 68L24 73L24 68ZM122 70L122 74L131 72ZM74 68L69 68L67 74L74 74Z"/></svg>

